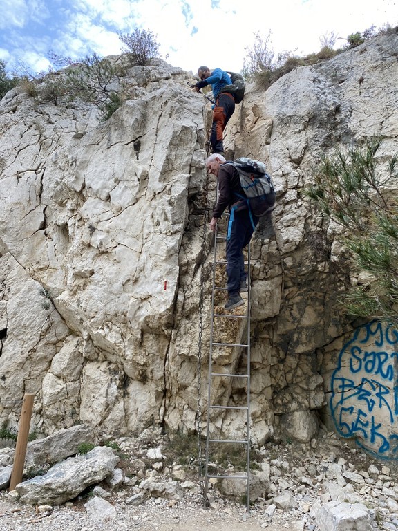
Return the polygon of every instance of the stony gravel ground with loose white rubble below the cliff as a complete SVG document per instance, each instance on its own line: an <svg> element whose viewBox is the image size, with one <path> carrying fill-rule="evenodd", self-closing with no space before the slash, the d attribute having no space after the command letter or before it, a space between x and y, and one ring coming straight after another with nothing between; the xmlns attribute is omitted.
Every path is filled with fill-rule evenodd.
<svg viewBox="0 0 398 531"><path fill-rule="evenodd" d="M311 445L279 441L253 451L257 465L270 467L270 485L266 498L258 498L249 513L246 505L216 488L209 490L211 507L203 505L198 462L186 440L168 444L167 437L152 434L146 440L122 438L117 443L124 483L111 492L102 491L102 503L113 514L90 510L91 502L101 500L96 497L101 494L92 487L77 499L55 507L23 505L12 493L0 491L0 531L318 531L316 511L342 495L346 501L361 503L375 513L375 530L398 531L397 463L387 466L376 461L325 429ZM156 447L162 448L164 459L159 472L155 469L159 463L148 457ZM184 465L178 465L178 456L184 457ZM138 463L142 465L139 472ZM179 501L153 497L142 486L146 478L169 481L181 473L179 481L188 480L191 487ZM350 483L351 477L354 483ZM355 483L358 479L359 484ZM103 487L106 491L106 483ZM285 508L276 501L275 496L281 492L289 492L294 500ZM141 496L140 505L133 505L138 503L132 501L135 496Z"/></svg>

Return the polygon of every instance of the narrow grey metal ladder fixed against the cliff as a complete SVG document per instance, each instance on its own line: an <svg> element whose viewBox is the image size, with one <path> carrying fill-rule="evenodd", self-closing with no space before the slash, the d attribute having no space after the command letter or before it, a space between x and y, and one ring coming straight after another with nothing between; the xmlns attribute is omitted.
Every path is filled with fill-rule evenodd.
<svg viewBox="0 0 398 531"><path fill-rule="evenodd" d="M229 219L229 214L223 214L222 219ZM247 246L247 262L245 266L247 267L247 302L246 302L246 313L245 315L236 315L234 310L225 310L229 313L215 313L214 312L214 303L215 303L215 294L219 291L227 292L226 287L216 286L216 269L218 265L226 264L225 259L218 259L218 247L221 242L226 242L226 236L219 235L219 225L216 227L216 233L214 238L214 258L213 258L213 286L211 290L211 333L210 333L210 353L209 353L209 378L208 378L208 393L207 393L207 429L206 429L206 453L205 453L205 485L204 485L204 496L207 499L207 488L209 485L210 478L228 478L228 479L245 479L246 480L246 507L247 512L250 510L250 243ZM244 297L243 297L244 298ZM243 308L240 306L239 308ZM232 313L231 313L232 312ZM247 333L247 342L246 343L220 343L214 341L215 335L215 323L217 319L244 319L246 321L246 333ZM245 335L245 334L243 334ZM213 356L215 348L240 348L240 355L244 351L247 353L247 370L246 373L242 374L232 374L232 373L219 373L214 372ZM239 356L240 356L239 355ZM221 404L211 404L211 390L212 384L217 378L240 378L246 380L246 391L247 391L247 403L245 406L227 406ZM245 410L247 413L246 416L246 438L238 440L227 440L227 439L217 439L210 438L210 421L211 421L211 411L219 410ZM246 473L245 474L235 474L235 475L220 475L220 474L209 474L209 445L210 443L218 443L220 445L231 445L233 443L242 444L246 448Z"/></svg>

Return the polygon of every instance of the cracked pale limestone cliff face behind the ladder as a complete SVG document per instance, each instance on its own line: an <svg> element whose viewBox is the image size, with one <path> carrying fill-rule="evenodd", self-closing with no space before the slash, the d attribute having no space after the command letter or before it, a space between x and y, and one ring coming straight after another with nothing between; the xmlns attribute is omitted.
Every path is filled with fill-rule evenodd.
<svg viewBox="0 0 398 531"><path fill-rule="evenodd" d="M380 162L398 151L397 46L397 34L377 37L267 91L248 86L228 126L227 158L265 160L278 189L252 241L259 445L292 422L310 440L321 411L342 436L393 457L395 343L391 334L379 350L368 342L351 378L345 345L361 333L337 297L356 279L338 235L300 190L336 147L377 133L386 139ZM189 79L164 62L131 68L123 80L131 99L106 122L88 104L37 104L17 88L1 100L0 420L15 424L29 392L33 427L44 434L76 422L109 436L153 423L196 429L198 372L203 408L207 400L213 258L203 209L215 195L204 167L211 113ZM223 333L238 343L243 330ZM233 352L217 364L245 360ZM345 404L341 382L344 391L361 382L368 394ZM241 395L238 383L214 389L223 404ZM218 412L211 429L239 437L244 419Z"/></svg>

